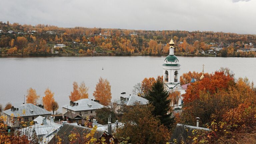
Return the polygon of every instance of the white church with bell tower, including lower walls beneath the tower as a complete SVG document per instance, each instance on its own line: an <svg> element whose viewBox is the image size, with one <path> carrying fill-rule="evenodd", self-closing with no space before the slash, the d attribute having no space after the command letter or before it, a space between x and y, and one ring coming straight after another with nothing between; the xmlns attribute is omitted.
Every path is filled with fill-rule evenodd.
<svg viewBox="0 0 256 144"><path fill-rule="evenodd" d="M174 55L174 42L172 39L169 44L170 52L163 64L163 82L167 91L180 92L180 96L177 96L176 100L171 104L173 109L179 109L183 103L181 95L185 93L187 87L180 85L180 64L178 58Z"/></svg>

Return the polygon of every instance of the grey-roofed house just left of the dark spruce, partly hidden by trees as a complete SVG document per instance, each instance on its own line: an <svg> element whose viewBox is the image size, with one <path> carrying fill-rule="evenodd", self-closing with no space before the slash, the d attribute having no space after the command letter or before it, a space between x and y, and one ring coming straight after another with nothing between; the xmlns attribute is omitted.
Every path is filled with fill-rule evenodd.
<svg viewBox="0 0 256 144"><path fill-rule="evenodd" d="M123 106L146 105L149 101L137 95L130 95L127 97L120 97L119 100L113 101L115 105L115 113L122 113Z"/></svg>

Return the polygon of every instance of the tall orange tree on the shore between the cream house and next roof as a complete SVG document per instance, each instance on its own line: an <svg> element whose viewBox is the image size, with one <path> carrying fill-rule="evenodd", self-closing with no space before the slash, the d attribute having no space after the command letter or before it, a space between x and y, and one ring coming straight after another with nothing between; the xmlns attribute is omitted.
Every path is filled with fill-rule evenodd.
<svg viewBox="0 0 256 144"><path fill-rule="evenodd" d="M93 96L95 99L99 100L104 106L108 106L111 103L111 86L107 79L99 78L99 82L96 84Z"/></svg>

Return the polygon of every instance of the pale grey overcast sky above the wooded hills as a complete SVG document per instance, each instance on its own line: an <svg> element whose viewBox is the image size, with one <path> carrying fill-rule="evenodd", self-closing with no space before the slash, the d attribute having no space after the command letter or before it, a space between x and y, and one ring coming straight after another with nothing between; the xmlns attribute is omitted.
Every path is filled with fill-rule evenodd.
<svg viewBox="0 0 256 144"><path fill-rule="evenodd" d="M1 0L0 21L256 34L256 0Z"/></svg>

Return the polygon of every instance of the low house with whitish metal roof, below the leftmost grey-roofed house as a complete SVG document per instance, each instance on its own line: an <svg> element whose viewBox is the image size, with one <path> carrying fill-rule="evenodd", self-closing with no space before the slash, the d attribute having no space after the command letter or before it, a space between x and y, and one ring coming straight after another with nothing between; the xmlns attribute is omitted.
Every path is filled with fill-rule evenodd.
<svg viewBox="0 0 256 144"><path fill-rule="evenodd" d="M35 122L34 125L23 128L20 131L25 135L32 136L33 134L36 134L42 143L48 143L54 137L54 134L56 134L62 127L62 125L54 122L52 116L50 117L50 120L38 116L33 121Z"/></svg>

